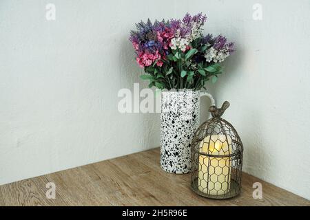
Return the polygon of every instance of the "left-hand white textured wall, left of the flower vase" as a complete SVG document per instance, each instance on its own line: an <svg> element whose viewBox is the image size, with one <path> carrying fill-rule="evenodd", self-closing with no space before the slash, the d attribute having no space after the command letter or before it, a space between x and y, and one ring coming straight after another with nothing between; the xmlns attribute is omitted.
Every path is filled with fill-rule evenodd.
<svg viewBox="0 0 310 220"><path fill-rule="evenodd" d="M0 1L0 184L159 146L159 115L118 113L117 94L141 82L134 23L173 10L163 0Z"/></svg>

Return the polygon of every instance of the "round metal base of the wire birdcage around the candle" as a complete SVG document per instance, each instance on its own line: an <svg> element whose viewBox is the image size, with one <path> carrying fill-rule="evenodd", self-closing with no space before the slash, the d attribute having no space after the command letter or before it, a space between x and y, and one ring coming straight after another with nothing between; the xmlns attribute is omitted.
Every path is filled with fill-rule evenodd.
<svg viewBox="0 0 310 220"><path fill-rule="evenodd" d="M192 183L191 188L198 195L209 198L209 199L229 199L232 197L236 197L237 195L240 194L240 191L241 191L240 184L238 184L238 182L234 179L231 179L229 191L225 193L224 195L210 195L205 192L201 192L198 189L198 177L195 178L194 183Z"/></svg>

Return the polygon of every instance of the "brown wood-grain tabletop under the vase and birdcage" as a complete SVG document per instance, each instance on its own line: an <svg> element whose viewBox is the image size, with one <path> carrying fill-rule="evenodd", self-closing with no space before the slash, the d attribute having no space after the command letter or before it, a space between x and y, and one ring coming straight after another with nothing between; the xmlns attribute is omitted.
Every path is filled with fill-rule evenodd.
<svg viewBox="0 0 310 220"><path fill-rule="evenodd" d="M48 182L56 198L45 195ZM262 199L254 199L255 182ZM159 166L159 149L0 186L0 206L310 206L310 201L242 175L242 192L226 200L206 199L189 187L190 175L166 173Z"/></svg>

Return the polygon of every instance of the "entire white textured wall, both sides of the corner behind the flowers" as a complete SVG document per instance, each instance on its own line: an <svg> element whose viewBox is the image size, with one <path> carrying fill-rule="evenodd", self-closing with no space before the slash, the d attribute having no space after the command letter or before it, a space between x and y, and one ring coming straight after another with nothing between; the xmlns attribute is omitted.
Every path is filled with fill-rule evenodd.
<svg viewBox="0 0 310 220"><path fill-rule="evenodd" d="M128 32L200 11L236 42L207 86L231 102L244 170L310 199L309 0L0 1L0 184L158 146L159 115L117 111L118 89L140 82Z"/></svg>

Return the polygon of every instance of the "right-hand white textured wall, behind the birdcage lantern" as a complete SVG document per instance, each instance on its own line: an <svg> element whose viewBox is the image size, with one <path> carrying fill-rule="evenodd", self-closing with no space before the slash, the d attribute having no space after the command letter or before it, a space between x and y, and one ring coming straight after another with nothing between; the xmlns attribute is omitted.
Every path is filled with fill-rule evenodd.
<svg viewBox="0 0 310 220"><path fill-rule="evenodd" d="M254 3L262 21L252 19ZM237 51L208 85L245 146L244 170L310 199L310 1L179 1L178 16L207 13L205 32Z"/></svg>

